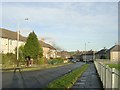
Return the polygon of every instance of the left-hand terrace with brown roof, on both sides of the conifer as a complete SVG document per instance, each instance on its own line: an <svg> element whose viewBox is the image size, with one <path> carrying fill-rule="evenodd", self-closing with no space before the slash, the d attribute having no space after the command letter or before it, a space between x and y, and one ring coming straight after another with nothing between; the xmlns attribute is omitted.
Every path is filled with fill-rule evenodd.
<svg viewBox="0 0 120 90"><path fill-rule="evenodd" d="M7 29L0 28L2 35L0 36L0 53L15 53L17 47L17 32L10 31ZM27 37L19 35L18 46L25 45ZM50 57L56 57L56 49L43 41L39 41L43 48L43 57L49 59Z"/></svg>

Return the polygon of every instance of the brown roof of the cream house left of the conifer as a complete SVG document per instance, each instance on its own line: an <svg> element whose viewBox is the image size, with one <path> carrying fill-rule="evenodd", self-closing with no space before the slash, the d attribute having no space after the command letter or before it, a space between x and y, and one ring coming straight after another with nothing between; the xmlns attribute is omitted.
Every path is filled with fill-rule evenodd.
<svg viewBox="0 0 120 90"><path fill-rule="evenodd" d="M2 32L2 36L1 36L2 38L17 40L17 32L10 31L10 30L3 29L3 28L0 28L0 31ZM25 42L27 40L27 38L20 35L19 40Z"/></svg>

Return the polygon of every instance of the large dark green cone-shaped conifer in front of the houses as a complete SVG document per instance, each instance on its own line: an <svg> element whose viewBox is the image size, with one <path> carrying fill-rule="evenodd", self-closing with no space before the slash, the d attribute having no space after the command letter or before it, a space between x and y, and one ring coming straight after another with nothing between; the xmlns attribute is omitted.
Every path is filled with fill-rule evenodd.
<svg viewBox="0 0 120 90"><path fill-rule="evenodd" d="M26 57L32 59L38 59L38 56L42 55L42 52L40 52L40 43L34 31L31 32L27 38L24 46L24 54Z"/></svg>

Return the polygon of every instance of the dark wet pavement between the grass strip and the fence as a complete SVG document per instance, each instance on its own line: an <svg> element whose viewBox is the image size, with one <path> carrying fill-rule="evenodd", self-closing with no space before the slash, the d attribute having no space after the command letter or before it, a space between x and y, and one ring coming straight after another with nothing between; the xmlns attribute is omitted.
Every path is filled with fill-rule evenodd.
<svg viewBox="0 0 120 90"><path fill-rule="evenodd" d="M89 63L86 72L83 73L80 79L73 85L72 88L88 89L89 90L102 90L102 83L96 71L94 63Z"/></svg>

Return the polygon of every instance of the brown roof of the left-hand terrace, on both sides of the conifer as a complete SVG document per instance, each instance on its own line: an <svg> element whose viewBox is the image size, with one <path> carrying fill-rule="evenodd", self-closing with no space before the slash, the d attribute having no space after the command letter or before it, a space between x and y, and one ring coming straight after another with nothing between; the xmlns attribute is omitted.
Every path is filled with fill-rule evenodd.
<svg viewBox="0 0 120 90"><path fill-rule="evenodd" d="M8 39L12 39L12 40L17 40L17 32L14 32L14 31L11 31L11 30L8 30L8 29L3 29L3 28L0 28L0 32L2 32L2 36L0 36L2 38L8 38ZM19 40L23 41L23 42L26 42L27 37L24 37L24 36L20 35ZM47 48L56 50L50 44L47 44L47 43L45 43L43 41L39 41L39 42L40 42L42 47L47 47Z"/></svg>

